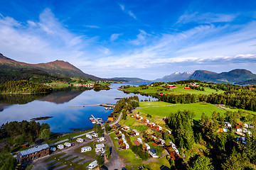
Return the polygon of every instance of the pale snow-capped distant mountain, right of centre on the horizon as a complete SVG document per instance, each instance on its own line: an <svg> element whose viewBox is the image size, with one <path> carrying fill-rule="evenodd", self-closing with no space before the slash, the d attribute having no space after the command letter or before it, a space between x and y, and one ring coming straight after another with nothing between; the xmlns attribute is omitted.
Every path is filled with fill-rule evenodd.
<svg viewBox="0 0 256 170"><path fill-rule="evenodd" d="M186 80L186 79L188 79L188 77L190 77L193 73L194 73L194 71L193 71L193 72L183 72L183 73L175 72L175 73L173 73L173 74L164 76L163 78L161 78L161 79L156 79L156 80L154 80L154 81L156 81L156 82L172 82L172 81Z"/></svg>

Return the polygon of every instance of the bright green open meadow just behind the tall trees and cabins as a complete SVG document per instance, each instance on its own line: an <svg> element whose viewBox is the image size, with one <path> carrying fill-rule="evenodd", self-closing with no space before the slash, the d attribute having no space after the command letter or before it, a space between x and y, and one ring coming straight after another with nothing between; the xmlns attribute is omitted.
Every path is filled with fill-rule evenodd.
<svg viewBox="0 0 256 170"><path fill-rule="evenodd" d="M211 118L213 111L219 112L220 115L225 113L222 109L213 106L209 103L189 103L189 104L176 104L172 106L159 106L159 107L147 107L140 108L138 111L140 113L156 115L160 117L169 116L170 113L176 113L178 110L180 111L193 111L196 114L195 119L201 119L202 113L208 115Z"/></svg>

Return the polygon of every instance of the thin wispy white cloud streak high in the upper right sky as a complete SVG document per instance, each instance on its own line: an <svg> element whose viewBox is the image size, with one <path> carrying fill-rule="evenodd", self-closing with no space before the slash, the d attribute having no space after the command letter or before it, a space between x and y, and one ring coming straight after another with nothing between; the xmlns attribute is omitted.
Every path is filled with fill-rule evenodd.
<svg viewBox="0 0 256 170"><path fill-rule="evenodd" d="M236 17L235 14L186 12L178 18L177 23L221 23L234 21Z"/></svg>

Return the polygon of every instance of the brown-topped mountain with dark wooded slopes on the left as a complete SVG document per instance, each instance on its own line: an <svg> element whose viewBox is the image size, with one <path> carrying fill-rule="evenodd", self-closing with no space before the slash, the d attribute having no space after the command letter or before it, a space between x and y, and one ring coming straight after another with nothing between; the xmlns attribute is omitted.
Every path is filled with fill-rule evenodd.
<svg viewBox="0 0 256 170"><path fill-rule="evenodd" d="M84 77L101 80L99 77L85 74L69 62L56 60L55 62L28 64L17 62L0 53L0 81L20 79L58 79L63 77Z"/></svg>

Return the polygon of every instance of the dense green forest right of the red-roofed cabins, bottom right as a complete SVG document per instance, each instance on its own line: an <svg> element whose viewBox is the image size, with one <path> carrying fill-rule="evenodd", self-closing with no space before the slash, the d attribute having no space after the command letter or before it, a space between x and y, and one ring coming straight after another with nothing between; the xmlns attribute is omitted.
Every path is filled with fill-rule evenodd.
<svg viewBox="0 0 256 170"><path fill-rule="evenodd" d="M179 151L193 150L196 145L206 147L203 154L193 155L185 160L170 162L171 169L254 169L256 164L256 132L245 134L245 143L236 139L235 129L242 113L227 111L225 115L213 112L212 117L202 114L201 120L193 120L193 112L178 111L171 113L166 125L171 129L171 135L164 135L178 146ZM231 123L228 132L220 132L224 121ZM256 115L252 118L256 124ZM183 155L186 157L186 155Z"/></svg>

